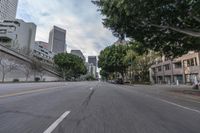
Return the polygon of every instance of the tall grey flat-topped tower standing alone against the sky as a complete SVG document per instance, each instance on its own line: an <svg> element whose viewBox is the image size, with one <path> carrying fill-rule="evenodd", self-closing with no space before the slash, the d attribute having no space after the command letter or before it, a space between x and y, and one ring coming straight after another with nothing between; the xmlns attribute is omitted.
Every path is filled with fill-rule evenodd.
<svg viewBox="0 0 200 133"><path fill-rule="evenodd" d="M49 51L56 54L66 52L66 30L54 26L49 33Z"/></svg>

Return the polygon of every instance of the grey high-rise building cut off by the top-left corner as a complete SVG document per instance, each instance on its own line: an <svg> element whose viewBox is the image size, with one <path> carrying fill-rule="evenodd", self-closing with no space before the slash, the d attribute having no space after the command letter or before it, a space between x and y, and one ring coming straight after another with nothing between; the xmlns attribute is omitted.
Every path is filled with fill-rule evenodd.
<svg viewBox="0 0 200 133"><path fill-rule="evenodd" d="M0 0L0 20L14 20L17 13L18 0Z"/></svg>

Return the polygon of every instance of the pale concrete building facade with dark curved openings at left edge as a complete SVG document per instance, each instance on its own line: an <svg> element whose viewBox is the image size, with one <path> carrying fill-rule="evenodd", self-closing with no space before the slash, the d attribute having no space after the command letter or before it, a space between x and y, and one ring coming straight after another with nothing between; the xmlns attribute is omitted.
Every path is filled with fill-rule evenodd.
<svg viewBox="0 0 200 133"><path fill-rule="evenodd" d="M29 55L35 43L36 25L20 19L0 22L0 43L19 53Z"/></svg>

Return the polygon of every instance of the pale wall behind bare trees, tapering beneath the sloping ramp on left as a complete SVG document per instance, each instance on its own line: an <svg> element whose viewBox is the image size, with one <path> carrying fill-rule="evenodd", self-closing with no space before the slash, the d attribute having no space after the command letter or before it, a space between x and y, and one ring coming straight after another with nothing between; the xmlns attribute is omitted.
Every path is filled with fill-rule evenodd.
<svg viewBox="0 0 200 133"><path fill-rule="evenodd" d="M34 81L35 77L41 81L59 81L62 80L57 74L42 69L36 71L32 69L30 62L24 61L16 56L10 55L0 50L0 82L5 73L5 82L18 79L19 81Z"/></svg>

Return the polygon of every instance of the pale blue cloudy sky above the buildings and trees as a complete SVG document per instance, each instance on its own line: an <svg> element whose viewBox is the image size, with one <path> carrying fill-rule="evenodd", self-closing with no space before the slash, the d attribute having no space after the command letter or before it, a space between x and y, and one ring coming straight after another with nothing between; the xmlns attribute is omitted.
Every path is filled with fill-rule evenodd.
<svg viewBox="0 0 200 133"><path fill-rule="evenodd" d="M102 16L91 0L19 0L17 18L37 25L36 41L48 42L54 25L67 30L67 51L98 55L117 39L103 27Z"/></svg>

